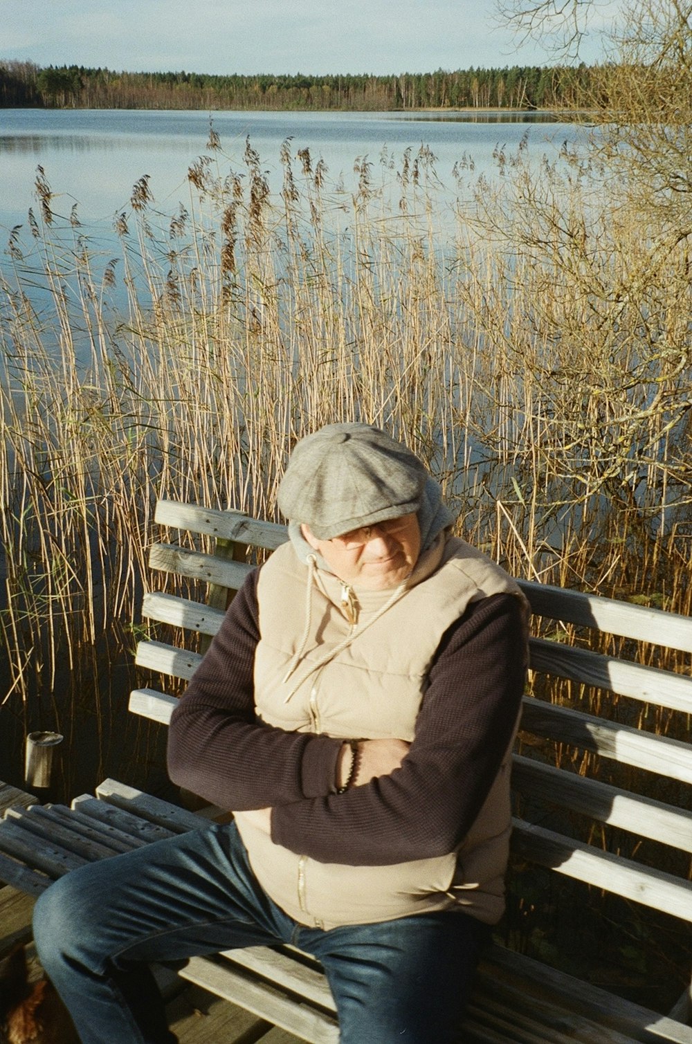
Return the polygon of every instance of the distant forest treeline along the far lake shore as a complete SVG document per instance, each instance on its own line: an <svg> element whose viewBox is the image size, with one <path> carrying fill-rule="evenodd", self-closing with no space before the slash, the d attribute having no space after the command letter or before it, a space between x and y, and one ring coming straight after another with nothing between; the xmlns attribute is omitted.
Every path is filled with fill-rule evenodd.
<svg viewBox="0 0 692 1044"><path fill-rule="evenodd" d="M207 75L0 64L0 106L46 109L553 109L573 108L587 66L438 69L400 75Z"/></svg>

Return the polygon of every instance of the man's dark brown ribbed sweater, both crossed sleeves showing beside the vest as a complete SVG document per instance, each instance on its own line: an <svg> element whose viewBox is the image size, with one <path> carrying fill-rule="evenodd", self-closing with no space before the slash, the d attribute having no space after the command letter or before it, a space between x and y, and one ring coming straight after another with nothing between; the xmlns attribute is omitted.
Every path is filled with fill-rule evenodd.
<svg viewBox="0 0 692 1044"><path fill-rule="evenodd" d="M526 626L509 594L473 602L445 634L402 767L335 793L341 739L257 720L257 573L236 595L173 711L174 783L236 810L272 806L272 840L323 862L383 865L454 851L511 738Z"/></svg>

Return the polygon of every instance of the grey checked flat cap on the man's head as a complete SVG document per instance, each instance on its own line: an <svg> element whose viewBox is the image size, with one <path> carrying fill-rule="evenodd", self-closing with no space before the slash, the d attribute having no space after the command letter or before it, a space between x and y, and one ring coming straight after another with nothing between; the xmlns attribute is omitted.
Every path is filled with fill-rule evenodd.
<svg viewBox="0 0 692 1044"><path fill-rule="evenodd" d="M282 514L331 540L417 512L428 471L369 424L328 424L295 446L279 487Z"/></svg>

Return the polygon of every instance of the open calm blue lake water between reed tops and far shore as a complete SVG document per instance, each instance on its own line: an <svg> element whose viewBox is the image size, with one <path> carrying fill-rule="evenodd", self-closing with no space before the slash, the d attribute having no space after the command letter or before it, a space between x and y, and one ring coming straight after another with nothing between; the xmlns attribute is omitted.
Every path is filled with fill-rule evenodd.
<svg viewBox="0 0 692 1044"><path fill-rule="evenodd" d="M496 146L511 150L527 132L536 155L577 134L544 114L220 112L212 119L236 169L249 136L272 187L287 138L293 155L309 148L313 160L324 159L329 179L336 184L343 176L348 187L354 160L367 156L377 170L383 149L399 159L409 146L429 146L447 183L455 163L471 158L478 173L491 166ZM38 166L56 195L55 212L69 216L77 203L80 220L93 229L110 228L113 215L128 208L143 174L150 175L157 205L172 213L189 198L188 166L206 151L209 126L210 114L202 112L0 110L0 235L25 224L35 207Z"/></svg>

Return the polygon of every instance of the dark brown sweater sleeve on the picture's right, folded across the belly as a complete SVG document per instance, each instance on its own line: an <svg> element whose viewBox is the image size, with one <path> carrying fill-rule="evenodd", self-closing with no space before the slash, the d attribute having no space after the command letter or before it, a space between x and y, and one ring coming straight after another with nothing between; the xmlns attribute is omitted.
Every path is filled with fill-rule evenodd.
<svg viewBox="0 0 692 1044"><path fill-rule="evenodd" d="M517 727L527 664L521 600L474 602L446 633L400 768L343 794L284 804L272 839L321 862L386 865L453 852Z"/></svg>

